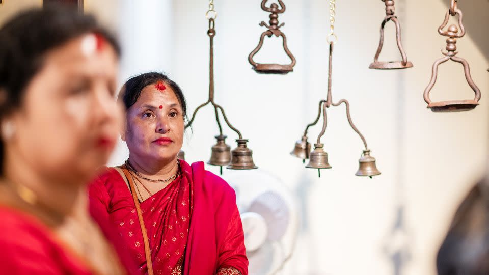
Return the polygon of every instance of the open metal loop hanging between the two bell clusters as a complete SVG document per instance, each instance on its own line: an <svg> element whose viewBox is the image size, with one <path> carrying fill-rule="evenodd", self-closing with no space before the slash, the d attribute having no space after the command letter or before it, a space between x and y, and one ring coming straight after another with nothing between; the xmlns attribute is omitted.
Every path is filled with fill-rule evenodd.
<svg viewBox="0 0 489 275"><path fill-rule="evenodd" d="M253 66L253 70L255 70L258 73L277 73L277 74L286 74L289 72L293 71L293 67L295 66L295 57L293 54L290 52L289 48L287 47L287 38L285 37L285 34L280 32L279 30L275 33L277 37L281 36L283 38L283 46L285 53L287 53L287 56L290 58L291 63L288 65L282 65L282 64L260 64L255 61L253 61L253 57L255 54L261 49L263 46L263 42L265 39L265 36L271 37L274 35L274 32L267 30L263 32L260 36L260 41L258 43L258 46L250 53L248 56L248 61L250 64Z"/></svg>

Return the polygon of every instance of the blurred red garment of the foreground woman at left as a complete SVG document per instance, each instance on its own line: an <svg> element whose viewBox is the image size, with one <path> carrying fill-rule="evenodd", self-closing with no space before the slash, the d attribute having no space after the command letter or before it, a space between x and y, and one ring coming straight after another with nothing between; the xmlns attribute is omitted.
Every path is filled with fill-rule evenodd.
<svg viewBox="0 0 489 275"><path fill-rule="evenodd" d="M7 206L0 217L0 274L94 274L37 218Z"/></svg>

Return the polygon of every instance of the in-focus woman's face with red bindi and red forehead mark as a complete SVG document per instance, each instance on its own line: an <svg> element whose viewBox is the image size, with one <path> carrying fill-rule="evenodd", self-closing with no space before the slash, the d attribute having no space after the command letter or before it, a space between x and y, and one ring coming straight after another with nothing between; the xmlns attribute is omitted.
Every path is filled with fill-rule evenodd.
<svg viewBox="0 0 489 275"><path fill-rule="evenodd" d="M164 82L146 86L127 110L126 141L131 156L170 162L182 148L184 121L180 102Z"/></svg>

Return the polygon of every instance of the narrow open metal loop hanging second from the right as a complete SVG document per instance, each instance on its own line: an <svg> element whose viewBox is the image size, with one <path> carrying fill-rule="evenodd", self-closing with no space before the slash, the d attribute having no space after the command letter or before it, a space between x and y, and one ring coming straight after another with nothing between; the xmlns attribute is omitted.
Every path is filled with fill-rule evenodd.
<svg viewBox="0 0 489 275"><path fill-rule="evenodd" d="M396 24L396 39L397 39L397 47L401 53L402 61L389 61L382 62L378 61L378 57L381 54L382 47L384 46L384 28L386 23L391 20ZM381 23L381 41L378 44L377 52L375 53L375 58L373 59L373 63L370 64L370 69L406 69L413 67L413 63L408 61L408 57L406 56L406 52L402 47L401 41L401 26L399 24L399 20L397 20L397 16L391 15L386 16L384 21Z"/></svg>

